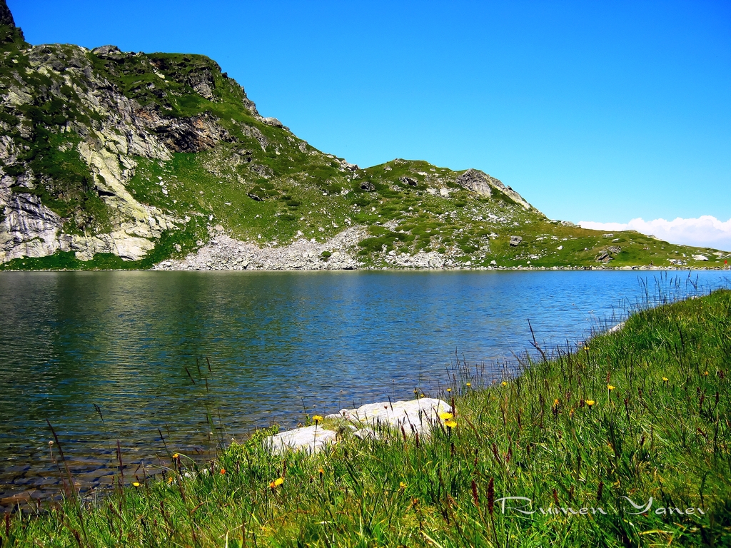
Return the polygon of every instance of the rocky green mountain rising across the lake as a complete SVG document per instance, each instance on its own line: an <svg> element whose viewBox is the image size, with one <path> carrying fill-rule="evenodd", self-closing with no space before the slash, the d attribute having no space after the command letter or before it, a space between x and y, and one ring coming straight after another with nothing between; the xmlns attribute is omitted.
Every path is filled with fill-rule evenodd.
<svg viewBox="0 0 731 548"><path fill-rule="evenodd" d="M0 0L0 268L708 265L500 180L318 151L199 55L26 43ZM718 253L718 252L716 252Z"/></svg>

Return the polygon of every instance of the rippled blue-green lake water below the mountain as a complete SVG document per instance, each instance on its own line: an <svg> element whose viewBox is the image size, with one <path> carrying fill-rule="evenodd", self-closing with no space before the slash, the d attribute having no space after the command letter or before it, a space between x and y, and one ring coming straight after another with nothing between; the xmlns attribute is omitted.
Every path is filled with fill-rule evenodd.
<svg viewBox="0 0 731 548"><path fill-rule="evenodd" d="M46 419L93 487L117 440L126 463L149 465L165 454L158 429L170 449L205 452L305 410L435 394L455 349L499 378L497 360L529 349L529 319L539 340L577 341L659 275L2 273L0 499L58 482ZM692 290L688 273L669 276Z"/></svg>

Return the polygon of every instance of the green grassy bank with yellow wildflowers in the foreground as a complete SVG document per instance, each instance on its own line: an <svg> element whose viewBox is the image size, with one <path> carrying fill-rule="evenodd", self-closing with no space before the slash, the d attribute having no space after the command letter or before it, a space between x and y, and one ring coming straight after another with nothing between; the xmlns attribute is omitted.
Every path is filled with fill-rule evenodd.
<svg viewBox="0 0 731 548"><path fill-rule="evenodd" d="M96 503L7 517L1 545L728 546L730 365L718 291L493 387L456 378L456 426L431 441L271 457L262 431L207 473L178 455Z"/></svg>

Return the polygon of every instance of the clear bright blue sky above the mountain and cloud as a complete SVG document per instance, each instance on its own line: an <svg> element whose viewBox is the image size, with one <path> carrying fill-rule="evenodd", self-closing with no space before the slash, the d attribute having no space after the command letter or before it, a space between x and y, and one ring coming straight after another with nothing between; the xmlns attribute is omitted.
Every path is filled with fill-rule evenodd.
<svg viewBox="0 0 731 548"><path fill-rule="evenodd" d="M727 1L8 4L33 44L208 55L361 167L477 167L572 221L731 218Z"/></svg>

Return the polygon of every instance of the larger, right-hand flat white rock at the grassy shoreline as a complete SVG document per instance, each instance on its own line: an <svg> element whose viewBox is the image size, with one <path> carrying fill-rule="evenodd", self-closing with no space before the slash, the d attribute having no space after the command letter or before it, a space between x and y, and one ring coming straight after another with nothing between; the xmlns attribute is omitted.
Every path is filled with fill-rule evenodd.
<svg viewBox="0 0 731 548"><path fill-rule="evenodd" d="M372 427L381 425L401 429L403 426L406 435L413 435L415 431L425 437L431 434L432 425L439 422L439 414L451 411L448 403L423 397L420 400L397 401L393 406L388 402L368 403L357 409L343 409L340 414L352 422Z"/></svg>

